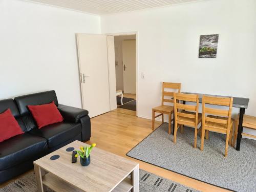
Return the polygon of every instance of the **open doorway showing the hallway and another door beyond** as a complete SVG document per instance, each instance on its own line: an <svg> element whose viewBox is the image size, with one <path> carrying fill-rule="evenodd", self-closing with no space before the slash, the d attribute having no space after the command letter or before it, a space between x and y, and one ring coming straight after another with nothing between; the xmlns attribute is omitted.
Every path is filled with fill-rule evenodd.
<svg viewBox="0 0 256 192"><path fill-rule="evenodd" d="M136 115L136 35L116 35L114 45L117 111Z"/></svg>

